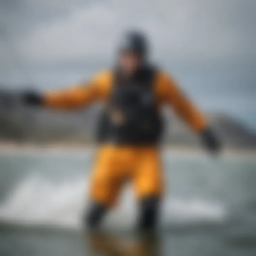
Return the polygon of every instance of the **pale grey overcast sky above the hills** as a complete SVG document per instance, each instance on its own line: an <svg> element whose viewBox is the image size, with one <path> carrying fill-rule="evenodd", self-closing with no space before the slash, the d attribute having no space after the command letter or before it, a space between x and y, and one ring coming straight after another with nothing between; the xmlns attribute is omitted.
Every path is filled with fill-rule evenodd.
<svg viewBox="0 0 256 256"><path fill-rule="evenodd" d="M256 130L255 27L254 0L0 0L0 83L45 90L87 78L112 62L121 32L139 28L199 107Z"/></svg>

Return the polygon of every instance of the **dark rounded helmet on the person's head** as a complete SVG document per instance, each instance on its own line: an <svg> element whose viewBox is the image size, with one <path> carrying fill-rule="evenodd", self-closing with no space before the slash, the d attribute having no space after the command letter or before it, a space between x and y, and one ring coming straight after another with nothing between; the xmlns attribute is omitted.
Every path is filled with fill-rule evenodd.
<svg viewBox="0 0 256 256"><path fill-rule="evenodd" d="M118 47L119 52L127 51L146 58L148 54L148 39L144 33L139 31L128 31L124 33Z"/></svg>

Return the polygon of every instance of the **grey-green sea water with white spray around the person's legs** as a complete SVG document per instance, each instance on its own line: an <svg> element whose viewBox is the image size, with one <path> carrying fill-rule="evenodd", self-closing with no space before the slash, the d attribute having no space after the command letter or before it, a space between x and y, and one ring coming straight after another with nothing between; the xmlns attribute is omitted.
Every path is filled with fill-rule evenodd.
<svg viewBox="0 0 256 256"><path fill-rule="evenodd" d="M0 154L0 255L256 255L254 156L163 153L166 194L155 236L134 232L132 189L84 233L91 152Z"/></svg>

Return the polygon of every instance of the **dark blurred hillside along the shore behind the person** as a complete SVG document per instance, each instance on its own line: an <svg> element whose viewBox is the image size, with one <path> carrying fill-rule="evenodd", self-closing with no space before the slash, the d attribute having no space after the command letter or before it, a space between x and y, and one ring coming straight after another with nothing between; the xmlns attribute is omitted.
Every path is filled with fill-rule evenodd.
<svg viewBox="0 0 256 256"><path fill-rule="evenodd" d="M100 108L94 106L71 113L26 108L21 104L18 95L0 91L0 140L92 143L95 140ZM164 143L199 145L196 134L172 112L165 111L164 116ZM226 147L256 149L256 133L243 123L223 113L208 113L207 117Z"/></svg>

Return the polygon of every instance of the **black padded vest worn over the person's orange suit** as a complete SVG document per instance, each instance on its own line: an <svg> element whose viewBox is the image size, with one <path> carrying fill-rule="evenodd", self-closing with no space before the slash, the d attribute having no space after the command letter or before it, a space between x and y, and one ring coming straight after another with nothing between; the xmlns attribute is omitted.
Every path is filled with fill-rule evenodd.
<svg viewBox="0 0 256 256"><path fill-rule="evenodd" d="M156 69L146 66L130 79L118 70L110 100L100 115L99 143L117 145L156 145L162 134L162 117L155 98Z"/></svg>

